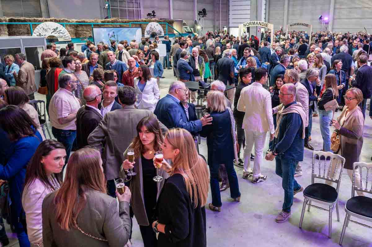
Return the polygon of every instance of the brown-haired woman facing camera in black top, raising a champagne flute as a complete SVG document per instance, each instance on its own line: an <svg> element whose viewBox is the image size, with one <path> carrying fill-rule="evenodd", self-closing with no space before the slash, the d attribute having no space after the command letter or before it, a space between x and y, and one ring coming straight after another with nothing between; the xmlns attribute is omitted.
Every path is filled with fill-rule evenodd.
<svg viewBox="0 0 372 247"><path fill-rule="evenodd" d="M124 153L124 157L130 158L128 156L129 150L134 149L134 162L130 162L128 159L124 160L120 176L126 182L130 181L131 207L138 225L140 225L144 246L154 247L157 246L156 236L151 227L154 208L161 188L163 188L164 179L169 177L163 169L159 169L158 175L164 179L160 182L154 181L157 173L153 159L155 153L161 151L163 135L157 118L153 116L142 118L137 124L137 132L137 137L133 139ZM129 176L129 169L133 169L137 174Z"/></svg>

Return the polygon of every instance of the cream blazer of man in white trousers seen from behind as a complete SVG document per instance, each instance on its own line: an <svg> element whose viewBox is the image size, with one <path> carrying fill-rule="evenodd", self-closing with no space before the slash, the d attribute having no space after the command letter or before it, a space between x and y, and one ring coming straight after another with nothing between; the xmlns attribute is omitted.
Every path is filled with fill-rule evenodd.
<svg viewBox="0 0 372 247"><path fill-rule="evenodd" d="M245 112L242 129L275 133L271 95L259 82L253 82L241 90L237 108Z"/></svg>

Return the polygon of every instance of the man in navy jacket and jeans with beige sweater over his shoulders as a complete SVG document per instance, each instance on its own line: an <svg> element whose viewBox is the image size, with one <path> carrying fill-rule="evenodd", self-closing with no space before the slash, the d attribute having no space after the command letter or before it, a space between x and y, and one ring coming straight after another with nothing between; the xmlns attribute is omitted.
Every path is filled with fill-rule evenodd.
<svg viewBox="0 0 372 247"><path fill-rule="evenodd" d="M275 221L278 223L288 220L291 216L293 196L304 190L294 177L296 164L304 160L304 138L306 113L301 103L296 102L296 86L292 83L284 84L280 88L280 102L284 107L276 118L278 126L275 130L275 147L268 153L266 160L275 159L275 173L282 178L284 202L282 211ZM290 131L288 131L290 130Z"/></svg>

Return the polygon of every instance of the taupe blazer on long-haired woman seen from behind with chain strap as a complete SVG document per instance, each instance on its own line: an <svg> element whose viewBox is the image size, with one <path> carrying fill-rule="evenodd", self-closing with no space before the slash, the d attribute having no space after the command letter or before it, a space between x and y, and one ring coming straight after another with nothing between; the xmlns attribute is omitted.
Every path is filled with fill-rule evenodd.
<svg viewBox="0 0 372 247"><path fill-rule="evenodd" d="M106 242L74 227L70 231L62 230L55 218L55 195L56 192L47 195L42 205L45 247L124 247L128 242L132 228L128 202L119 202L118 210L116 198L92 189L86 191L86 204L77 217L77 224L85 233L108 240Z"/></svg>

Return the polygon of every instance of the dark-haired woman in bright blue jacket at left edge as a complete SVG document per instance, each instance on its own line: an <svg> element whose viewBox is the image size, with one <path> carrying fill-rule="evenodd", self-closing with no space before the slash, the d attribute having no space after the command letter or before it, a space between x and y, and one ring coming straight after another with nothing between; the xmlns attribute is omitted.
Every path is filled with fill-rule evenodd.
<svg viewBox="0 0 372 247"><path fill-rule="evenodd" d="M15 228L20 247L29 247L30 242L22 224L25 212L21 203L21 191L25 184L27 165L42 142L38 126L25 110L8 105L0 110L1 144L6 153L0 157L0 179L8 181L11 224ZM4 136L5 135L5 136Z"/></svg>

